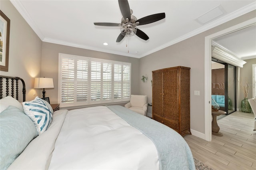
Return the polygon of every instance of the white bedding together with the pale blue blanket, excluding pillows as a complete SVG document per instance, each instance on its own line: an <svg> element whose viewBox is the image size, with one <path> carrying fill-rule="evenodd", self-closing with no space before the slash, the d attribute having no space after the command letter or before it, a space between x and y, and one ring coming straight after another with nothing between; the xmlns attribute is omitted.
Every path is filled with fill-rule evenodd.
<svg viewBox="0 0 256 170"><path fill-rule="evenodd" d="M54 112L48 130L32 140L8 170L195 169L182 136L123 109L98 106Z"/></svg>

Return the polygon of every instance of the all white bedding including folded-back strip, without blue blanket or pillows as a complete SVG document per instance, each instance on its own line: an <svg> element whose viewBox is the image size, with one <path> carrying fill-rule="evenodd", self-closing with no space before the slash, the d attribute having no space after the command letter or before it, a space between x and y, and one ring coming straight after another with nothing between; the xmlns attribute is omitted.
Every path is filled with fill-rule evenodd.
<svg viewBox="0 0 256 170"><path fill-rule="evenodd" d="M32 140L8 168L17 169L157 170L159 162L148 137L99 106L54 112L48 130Z"/></svg>

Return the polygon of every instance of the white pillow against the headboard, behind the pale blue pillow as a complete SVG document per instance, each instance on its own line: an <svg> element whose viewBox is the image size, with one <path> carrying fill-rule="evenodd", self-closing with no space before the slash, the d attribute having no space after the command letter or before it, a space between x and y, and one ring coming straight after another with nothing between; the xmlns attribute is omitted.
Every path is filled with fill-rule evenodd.
<svg viewBox="0 0 256 170"><path fill-rule="evenodd" d="M6 96L6 97L0 99L0 113L2 111L4 111L5 109L7 109L8 106L15 106L23 112L22 105L20 104L19 101L17 101L13 97Z"/></svg>

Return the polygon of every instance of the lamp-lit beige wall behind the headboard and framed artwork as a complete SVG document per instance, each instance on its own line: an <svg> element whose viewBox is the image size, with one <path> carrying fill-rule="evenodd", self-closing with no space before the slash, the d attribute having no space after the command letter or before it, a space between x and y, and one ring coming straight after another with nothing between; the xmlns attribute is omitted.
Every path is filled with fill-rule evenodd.
<svg viewBox="0 0 256 170"><path fill-rule="evenodd" d="M26 83L26 100L32 100L34 77L41 74L42 41L20 13L8 0L1 0L1 11L10 19L9 70L0 71L0 75L22 77ZM42 92L41 92L42 93ZM20 96L19 101L22 101Z"/></svg>

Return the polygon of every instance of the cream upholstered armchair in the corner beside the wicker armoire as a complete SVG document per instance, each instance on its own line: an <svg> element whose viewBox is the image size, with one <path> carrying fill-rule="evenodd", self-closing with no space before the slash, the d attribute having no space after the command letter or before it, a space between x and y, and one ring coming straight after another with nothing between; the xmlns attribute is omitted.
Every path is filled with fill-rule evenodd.
<svg viewBox="0 0 256 170"><path fill-rule="evenodd" d="M148 103L146 95L131 95L130 102L124 107L146 116L148 111Z"/></svg>

